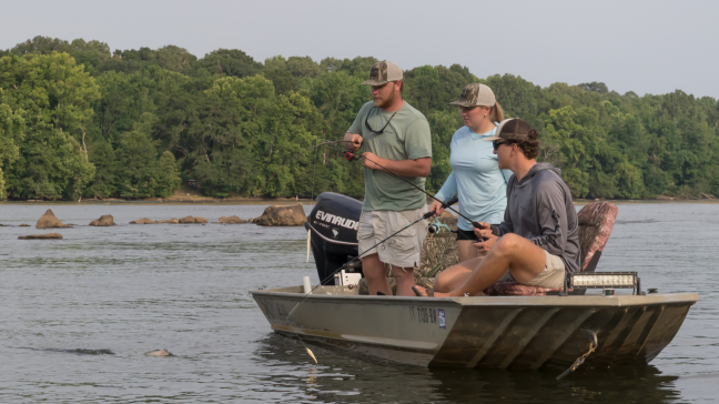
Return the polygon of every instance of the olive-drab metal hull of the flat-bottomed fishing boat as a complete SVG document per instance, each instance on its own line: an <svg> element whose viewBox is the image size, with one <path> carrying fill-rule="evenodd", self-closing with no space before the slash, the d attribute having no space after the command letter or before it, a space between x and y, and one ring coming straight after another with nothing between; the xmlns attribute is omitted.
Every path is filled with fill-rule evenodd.
<svg viewBox="0 0 719 404"><path fill-rule="evenodd" d="M567 367L647 363L679 331L699 296L362 296L343 286L251 292L272 329L303 340L419 366Z"/></svg>

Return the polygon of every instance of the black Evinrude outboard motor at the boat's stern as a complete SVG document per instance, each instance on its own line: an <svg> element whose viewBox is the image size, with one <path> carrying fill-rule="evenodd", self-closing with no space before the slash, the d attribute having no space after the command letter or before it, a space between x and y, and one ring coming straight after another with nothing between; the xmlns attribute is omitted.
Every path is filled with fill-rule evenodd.
<svg viewBox="0 0 719 404"><path fill-rule="evenodd" d="M305 222L312 254L323 285L334 284L332 273L357 256L357 228L362 202L334 192L323 192ZM346 272L362 272L360 262Z"/></svg>

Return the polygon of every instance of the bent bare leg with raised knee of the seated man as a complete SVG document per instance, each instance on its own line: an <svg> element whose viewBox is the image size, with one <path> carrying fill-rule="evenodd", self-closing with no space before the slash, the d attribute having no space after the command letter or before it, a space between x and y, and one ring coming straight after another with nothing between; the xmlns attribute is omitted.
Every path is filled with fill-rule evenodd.
<svg viewBox="0 0 719 404"><path fill-rule="evenodd" d="M545 267L547 255L544 250L529 240L516 235L502 236L489 250L466 281L447 293L435 293L435 297L464 296L465 293L477 293L497 282L507 269L517 282L529 282Z"/></svg>

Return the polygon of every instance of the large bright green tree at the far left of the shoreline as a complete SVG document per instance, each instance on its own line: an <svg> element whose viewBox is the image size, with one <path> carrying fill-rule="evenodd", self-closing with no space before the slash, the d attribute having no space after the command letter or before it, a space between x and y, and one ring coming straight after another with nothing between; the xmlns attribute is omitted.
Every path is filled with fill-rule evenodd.
<svg viewBox="0 0 719 404"><path fill-rule="evenodd" d="M92 179L84 127L99 97L94 80L68 53L0 59L0 88L26 130L17 163L6 170L12 198L77 199Z"/></svg>

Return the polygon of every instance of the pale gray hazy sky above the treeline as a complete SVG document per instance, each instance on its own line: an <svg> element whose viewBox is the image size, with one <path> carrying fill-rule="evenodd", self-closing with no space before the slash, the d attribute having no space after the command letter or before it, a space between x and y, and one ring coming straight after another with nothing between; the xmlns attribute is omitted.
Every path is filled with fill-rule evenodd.
<svg viewBox="0 0 719 404"><path fill-rule="evenodd" d="M3 0L0 9L0 49L40 34L111 50L175 44L198 58L240 49L261 62L373 55L541 87L602 81L619 93L719 98L719 1Z"/></svg>

